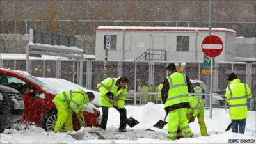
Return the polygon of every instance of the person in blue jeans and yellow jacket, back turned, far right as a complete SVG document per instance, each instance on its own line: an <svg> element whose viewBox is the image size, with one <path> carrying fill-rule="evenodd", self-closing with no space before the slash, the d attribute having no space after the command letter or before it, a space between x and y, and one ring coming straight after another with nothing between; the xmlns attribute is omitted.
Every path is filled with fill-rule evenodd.
<svg viewBox="0 0 256 144"><path fill-rule="evenodd" d="M242 83L234 72L228 75L230 83L226 89L226 100L229 104L232 132L244 134L248 116L247 100L252 97L246 83Z"/></svg>

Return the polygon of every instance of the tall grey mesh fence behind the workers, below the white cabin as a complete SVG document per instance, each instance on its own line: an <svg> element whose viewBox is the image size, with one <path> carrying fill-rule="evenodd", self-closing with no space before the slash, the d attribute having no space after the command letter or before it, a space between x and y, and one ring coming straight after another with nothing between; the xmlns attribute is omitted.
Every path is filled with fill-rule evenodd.
<svg viewBox="0 0 256 144"><path fill-rule="evenodd" d="M79 81L79 62L77 60L30 60L30 73L36 77L55 77L78 83ZM172 61L173 62L173 61ZM155 89L167 76L166 66L170 62L166 61L108 61L108 77L126 76L129 78L129 92L131 99L140 103L140 93L142 89L148 87L148 92L157 93ZM178 62L180 63L180 62ZM122 65L121 65L122 64ZM209 93L209 74L202 74L202 65L200 62L188 61L184 72L190 79L202 81L204 92ZM25 70L26 60L0 60L1 68L10 68L13 70ZM83 86L92 90L97 90L97 84L103 80L104 61L86 60L83 61ZM248 83L253 98L251 109L255 110L256 95L256 63L243 62L218 62L214 65L213 74L213 92L216 98L216 104L225 105L225 89L228 85L227 76L235 72L243 83ZM137 93L136 93L137 92ZM138 93L140 92L140 93ZM131 93L136 93L132 95ZM144 91L143 91L144 93ZM145 94L145 93L144 93ZM159 94L159 93L158 93ZM216 96L217 95L217 96ZM152 95L151 95L152 96ZM157 94L154 95L157 97ZM206 95L207 97L207 95ZM221 98L222 97L222 98ZM138 99L137 99L138 98ZM215 98L214 98L215 99ZM224 100L224 103L223 103ZM156 100L150 99L150 102ZM207 103L207 100L206 100Z"/></svg>

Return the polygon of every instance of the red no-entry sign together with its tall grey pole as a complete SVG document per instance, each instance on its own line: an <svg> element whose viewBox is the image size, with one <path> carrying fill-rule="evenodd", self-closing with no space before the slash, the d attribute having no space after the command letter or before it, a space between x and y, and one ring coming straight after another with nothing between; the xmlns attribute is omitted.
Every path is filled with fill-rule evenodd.
<svg viewBox="0 0 256 144"><path fill-rule="evenodd" d="M223 51L223 42L221 38L215 35L209 35L204 38L201 44L202 52L205 56L211 58L211 77L210 77L210 118L212 118L212 69L213 69L213 58L219 56Z"/></svg>

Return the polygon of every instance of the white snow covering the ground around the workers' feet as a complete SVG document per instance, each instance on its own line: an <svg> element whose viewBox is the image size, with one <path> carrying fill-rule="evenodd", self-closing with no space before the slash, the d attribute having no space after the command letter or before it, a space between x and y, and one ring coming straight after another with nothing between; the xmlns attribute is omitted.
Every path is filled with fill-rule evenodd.
<svg viewBox="0 0 256 144"><path fill-rule="evenodd" d="M83 140L75 140L65 133L55 134L54 132L45 132L40 127L29 125L28 129L20 131L16 129L6 129L0 134L0 143L228 143L228 139L255 139L255 111L249 111L246 119L245 134L235 134L230 131L225 132L230 124L228 109L213 108L212 119L209 119L209 110L205 110L205 123L209 137L201 137L200 129L197 123L191 123L191 129L194 133L193 138L182 138L175 141L167 141L167 127L156 129L152 127L158 120L164 118L163 104L148 103L144 106L126 106L127 117L132 116L140 122L132 129L127 126L127 132L119 133L119 113L114 108L109 109L108 125L104 134L108 140L97 139L96 134L86 133ZM101 109L100 109L101 111ZM154 131L145 131L145 129ZM85 128L89 129L89 128ZM83 131L82 128L80 130Z"/></svg>

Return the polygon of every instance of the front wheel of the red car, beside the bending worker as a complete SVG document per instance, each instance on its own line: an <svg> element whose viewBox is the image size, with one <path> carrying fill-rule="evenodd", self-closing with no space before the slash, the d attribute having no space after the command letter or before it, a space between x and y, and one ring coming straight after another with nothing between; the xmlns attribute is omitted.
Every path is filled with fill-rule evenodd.
<svg viewBox="0 0 256 144"><path fill-rule="evenodd" d="M42 122L42 127L45 131L54 131L54 127L57 121L57 109L53 109L45 114ZM65 132L65 125L62 127L62 131Z"/></svg>

